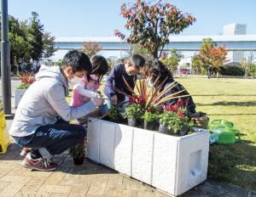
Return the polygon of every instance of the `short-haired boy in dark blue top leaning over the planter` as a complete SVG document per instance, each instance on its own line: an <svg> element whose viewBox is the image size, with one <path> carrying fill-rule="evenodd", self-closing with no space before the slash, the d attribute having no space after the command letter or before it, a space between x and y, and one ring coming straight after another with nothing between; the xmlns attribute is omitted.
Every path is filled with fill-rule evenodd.
<svg viewBox="0 0 256 197"><path fill-rule="evenodd" d="M104 87L104 93L109 99L106 100L108 109L112 107L112 104L119 106L119 104L125 102L125 95L123 93L131 95L125 81L129 83L131 88L134 88L137 74L142 70L144 65L145 59L139 54L133 54L131 58L125 60L124 64L113 67ZM125 77L125 81L123 77Z"/></svg>

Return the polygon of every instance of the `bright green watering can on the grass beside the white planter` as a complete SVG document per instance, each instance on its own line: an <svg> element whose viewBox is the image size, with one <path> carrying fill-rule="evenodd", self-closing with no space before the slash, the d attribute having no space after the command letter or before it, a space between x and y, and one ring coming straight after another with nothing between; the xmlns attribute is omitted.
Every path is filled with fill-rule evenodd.
<svg viewBox="0 0 256 197"><path fill-rule="evenodd" d="M240 140L240 132L230 121L215 120L209 124L208 128L212 131L213 136L218 136L218 144L235 144Z"/></svg>

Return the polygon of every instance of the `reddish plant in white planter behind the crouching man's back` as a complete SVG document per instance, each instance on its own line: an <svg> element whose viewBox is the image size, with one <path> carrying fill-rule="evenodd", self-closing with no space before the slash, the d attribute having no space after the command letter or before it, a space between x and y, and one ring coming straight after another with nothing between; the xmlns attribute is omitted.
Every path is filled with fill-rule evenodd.
<svg viewBox="0 0 256 197"><path fill-rule="evenodd" d="M18 104L20 103L20 99L26 92L26 89L30 87L30 85L35 82L34 76L32 74L28 73L26 75L20 76L21 84L19 87L16 87L15 89L15 108L18 107Z"/></svg>

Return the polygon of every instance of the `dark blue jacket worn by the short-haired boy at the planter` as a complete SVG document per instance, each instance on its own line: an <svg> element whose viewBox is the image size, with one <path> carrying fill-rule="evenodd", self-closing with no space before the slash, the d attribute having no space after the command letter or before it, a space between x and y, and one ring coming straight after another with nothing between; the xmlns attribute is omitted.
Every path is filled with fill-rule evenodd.
<svg viewBox="0 0 256 197"><path fill-rule="evenodd" d="M125 84L125 81L123 79L123 76L125 77L126 82L129 83L132 89L135 87L135 80L137 79L137 76L129 76L125 71L125 65L115 65L113 69L111 70L106 85L104 87L104 93L109 98L113 95L116 95L118 98L118 101L124 101L125 95L122 93L119 93L116 91L116 89L119 89L121 92L131 95L131 92L129 91L128 87Z"/></svg>

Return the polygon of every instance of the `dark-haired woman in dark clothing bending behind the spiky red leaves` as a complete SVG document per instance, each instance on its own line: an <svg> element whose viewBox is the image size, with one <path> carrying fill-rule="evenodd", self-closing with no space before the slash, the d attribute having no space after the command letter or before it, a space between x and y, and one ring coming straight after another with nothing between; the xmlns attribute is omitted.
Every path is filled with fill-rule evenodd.
<svg viewBox="0 0 256 197"><path fill-rule="evenodd" d="M160 91L166 89L167 87L169 87L172 82L175 82L173 77L172 77L172 73L171 71L168 69L168 67L166 65L164 65L160 60L150 60L146 63L146 65L144 66L143 70L142 70L143 76L146 76L147 80L148 80L148 84L150 86L154 87L158 87L160 86L160 84L162 82L164 82L162 88ZM156 79L158 78L158 81L156 81ZM155 82L155 84L154 84ZM177 82L177 85L175 87L172 88L172 90L170 90L169 92L167 92L166 94L164 94L164 96L168 96L171 93L177 93L179 91L184 90L182 93L178 93L175 96L178 95L188 95L189 92L181 85ZM183 98L174 98L172 100L166 101L165 104L177 104L178 99L181 99L183 101L187 101L187 109L189 111L189 114L195 114L195 103L193 101L193 98L191 96L188 97L183 97Z"/></svg>

